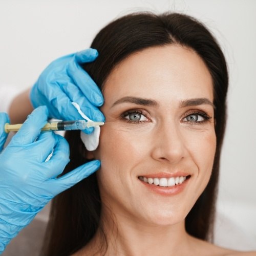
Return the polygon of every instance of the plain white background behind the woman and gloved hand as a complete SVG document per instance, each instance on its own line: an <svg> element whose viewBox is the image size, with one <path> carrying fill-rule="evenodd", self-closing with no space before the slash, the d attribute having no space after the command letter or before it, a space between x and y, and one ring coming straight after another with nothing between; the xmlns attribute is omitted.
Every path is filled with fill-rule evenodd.
<svg viewBox="0 0 256 256"><path fill-rule="evenodd" d="M112 19L144 10L193 15L221 44L230 87L216 243L256 249L256 1L0 0L0 84L30 87L53 59L89 48Z"/></svg>

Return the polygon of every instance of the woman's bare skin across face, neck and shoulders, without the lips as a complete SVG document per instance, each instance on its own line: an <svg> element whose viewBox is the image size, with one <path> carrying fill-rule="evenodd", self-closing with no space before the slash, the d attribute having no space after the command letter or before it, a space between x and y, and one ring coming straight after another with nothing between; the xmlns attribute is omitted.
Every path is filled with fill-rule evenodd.
<svg viewBox="0 0 256 256"><path fill-rule="evenodd" d="M184 226L209 181L216 151L212 80L203 60L180 46L145 49L115 67L103 96L106 123L99 147L88 157L101 160L97 177L109 244L105 255L237 254L189 236ZM155 103L123 99L127 96ZM127 111L142 112L141 122L129 122ZM189 122L193 114L205 121ZM158 193L138 178L177 172L189 179L174 195ZM74 255L101 255L100 242L97 232Z"/></svg>

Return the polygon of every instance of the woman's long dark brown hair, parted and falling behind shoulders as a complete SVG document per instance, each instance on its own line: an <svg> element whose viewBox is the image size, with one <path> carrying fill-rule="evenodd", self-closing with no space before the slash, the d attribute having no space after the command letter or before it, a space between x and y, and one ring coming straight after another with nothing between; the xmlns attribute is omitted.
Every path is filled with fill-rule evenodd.
<svg viewBox="0 0 256 256"><path fill-rule="evenodd" d="M98 58L83 65L102 89L116 65L127 56L154 46L181 45L193 49L207 66L214 87L217 150L208 185L185 220L186 231L203 240L212 239L221 146L226 120L228 73L224 55L211 33L193 17L179 13L134 13L114 20L95 37L91 47ZM66 134L70 163L63 174L87 162L79 132ZM52 202L44 255L70 255L93 238L100 225L101 200L96 174L58 195ZM106 240L105 245L107 246Z"/></svg>

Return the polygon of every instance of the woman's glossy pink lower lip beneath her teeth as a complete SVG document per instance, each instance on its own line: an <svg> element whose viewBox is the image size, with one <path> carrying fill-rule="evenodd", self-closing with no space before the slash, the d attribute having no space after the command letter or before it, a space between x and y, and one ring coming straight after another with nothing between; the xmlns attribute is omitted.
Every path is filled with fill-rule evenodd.
<svg viewBox="0 0 256 256"><path fill-rule="evenodd" d="M189 179L186 179L183 183L172 186L172 187L161 187L154 184L148 184L140 179L138 179L144 186L153 192L160 194L162 196L175 196L184 189Z"/></svg>

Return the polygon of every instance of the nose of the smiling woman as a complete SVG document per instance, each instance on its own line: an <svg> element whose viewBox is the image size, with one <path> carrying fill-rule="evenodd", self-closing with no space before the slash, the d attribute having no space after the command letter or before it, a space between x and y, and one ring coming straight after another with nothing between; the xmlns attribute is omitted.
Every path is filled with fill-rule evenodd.
<svg viewBox="0 0 256 256"><path fill-rule="evenodd" d="M155 160L175 164L188 155L179 124L163 122L156 127L153 137L151 155Z"/></svg>

